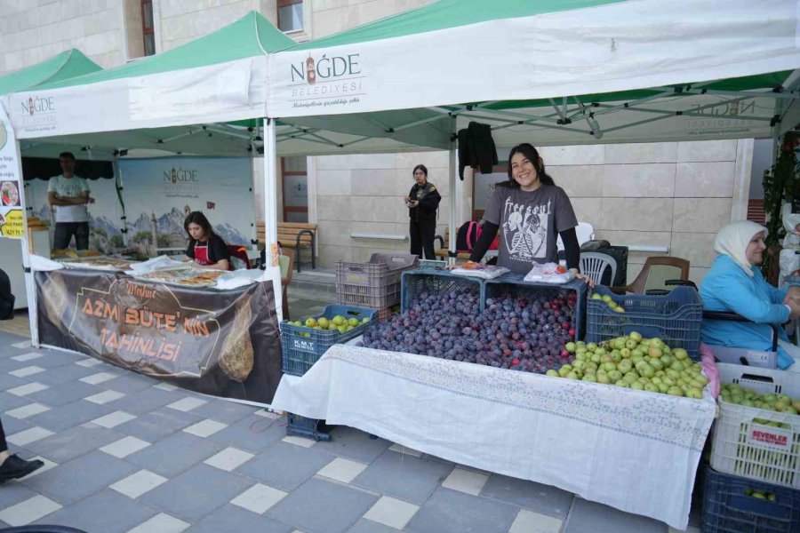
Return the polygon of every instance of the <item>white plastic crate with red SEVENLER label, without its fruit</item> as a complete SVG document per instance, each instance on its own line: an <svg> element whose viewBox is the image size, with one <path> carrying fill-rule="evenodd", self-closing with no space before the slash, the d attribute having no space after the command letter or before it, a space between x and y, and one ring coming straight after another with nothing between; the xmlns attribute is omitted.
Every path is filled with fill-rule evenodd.
<svg viewBox="0 0 800 533"><path fill-rule="evenodd" d="M800 374L719 363L722 383L737 383L759 394L800 397ZM762 418L789 429L754 422ZM724 473L800 489L800 415L746 407L719 399L711 466Z"/></svg>

